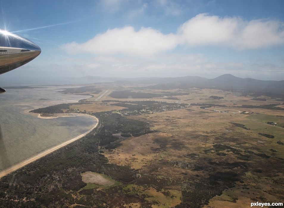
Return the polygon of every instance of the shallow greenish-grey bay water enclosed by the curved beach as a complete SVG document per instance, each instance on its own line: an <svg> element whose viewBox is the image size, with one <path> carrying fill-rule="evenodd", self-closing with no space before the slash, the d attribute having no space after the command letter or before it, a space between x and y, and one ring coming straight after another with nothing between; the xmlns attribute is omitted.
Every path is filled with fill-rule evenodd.
<svg viewBox="0 0 284 208"><path fill-rule="evenodd" d="M0 171L77 137L96 124L94 118L83 114L42 119L38 114L27 113L89 97L58 92L68 87L74 86L7 89L0 94Z"/></svg>

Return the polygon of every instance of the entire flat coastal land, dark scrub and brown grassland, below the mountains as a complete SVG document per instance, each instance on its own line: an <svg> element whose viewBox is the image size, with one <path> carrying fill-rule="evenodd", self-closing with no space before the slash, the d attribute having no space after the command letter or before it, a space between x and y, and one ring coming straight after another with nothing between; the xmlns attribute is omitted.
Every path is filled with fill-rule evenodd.
<svg viewBox="0 0 284 208"><path fill-rule="evenodd" d="M108 84L106 88L113 90ZM79 111L99 122L81 139L0 178L0 207L209 208L240 207L246 200L279 201L282 129L259 126L246 115L230 116L238 110L224 114L199 110L232 108L224 104L235 102L237 107L254 106L252 110L259 113L255 115L269 111L282 119L283 110L277 106L282 102L246 103L238 101L239 93L215 90L224 103L207 104L216 102L209 97L211 91L183 95L176 102L105 96L77 106L67 103L33 110L52 118L55 113ZM197 103L200 100L204 103ZM101 111L91 111L98 105ZM275 138L263 136L272 132ZM86 173L91 173L92 181L82 178ZM117 184L105 186L103 179ZM254 185L262 182L270 187Z"/></svg>

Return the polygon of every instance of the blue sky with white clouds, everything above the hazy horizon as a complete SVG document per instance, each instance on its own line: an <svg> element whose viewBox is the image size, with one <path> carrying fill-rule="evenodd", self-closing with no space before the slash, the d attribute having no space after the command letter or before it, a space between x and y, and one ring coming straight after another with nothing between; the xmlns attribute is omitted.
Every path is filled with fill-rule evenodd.
<svg viewBox="0 0 284 208"><path fill-rule="evenodd" d="M284 79L282 0L3 0L0 8L1 29L42 49L0 83L224 73Z"/></svg>

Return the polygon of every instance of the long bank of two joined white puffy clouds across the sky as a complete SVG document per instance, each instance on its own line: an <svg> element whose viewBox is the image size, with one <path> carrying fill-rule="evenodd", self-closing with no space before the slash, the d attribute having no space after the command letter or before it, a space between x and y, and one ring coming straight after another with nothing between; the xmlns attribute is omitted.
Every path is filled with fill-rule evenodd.
<svg viewBox="0 0 284 208"><path fill-rule="evenodd" d="M261 49L284 44L284 23L269 19L245 21L241 17L196 15L178 27L176 33L163 34L151 27L135 31L133 26L108 29L85 43L63 46L71 54L127 54L152 56L177 46L216 46L235 50Z"/></svg>

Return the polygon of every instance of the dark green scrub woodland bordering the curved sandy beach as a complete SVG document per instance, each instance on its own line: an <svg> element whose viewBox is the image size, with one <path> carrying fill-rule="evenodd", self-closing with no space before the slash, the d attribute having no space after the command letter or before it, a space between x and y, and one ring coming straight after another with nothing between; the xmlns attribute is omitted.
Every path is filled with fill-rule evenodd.
<svg viewBox="0 0 284 208"><path fill-rule="evenodd" d="M57 107L60 105L53 107L56 112ZM126 118L112 111L91 115L98 118L99 122L80 140L64 145L0 178L0 207L65 207L76 203L103 207L104 200L100 198L83 197L74 201L71 193L84 192L82 188L87 185L82 181L81 173L102 173L122 184L139 179L137 170L127 165L111 164L101 153L103 149L113 149L120 145L121 138L114 136L116 133L138 136L154 132L149 123ZM7 197L3 198L4 195ZM12 198L24 200L14 201ZM145 203L149 205L149 202Z"/></svg>

